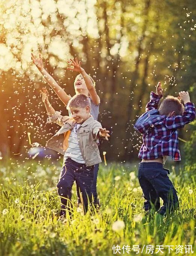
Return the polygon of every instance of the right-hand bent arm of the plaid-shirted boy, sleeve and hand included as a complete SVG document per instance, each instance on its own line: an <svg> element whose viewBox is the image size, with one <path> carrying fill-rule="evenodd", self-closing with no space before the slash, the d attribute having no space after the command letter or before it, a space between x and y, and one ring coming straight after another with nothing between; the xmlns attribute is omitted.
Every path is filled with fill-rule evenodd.
<svg viewBox="0 0 196 256"><path fill-rule="evenodd" d="M172 116L166 118L166 126L168 129L183 128L187 123L192 122L195 119L195 105L190 102L190 96L188 92L179 92L180 98L184 101L185 111L183 116Z"/></svg>

